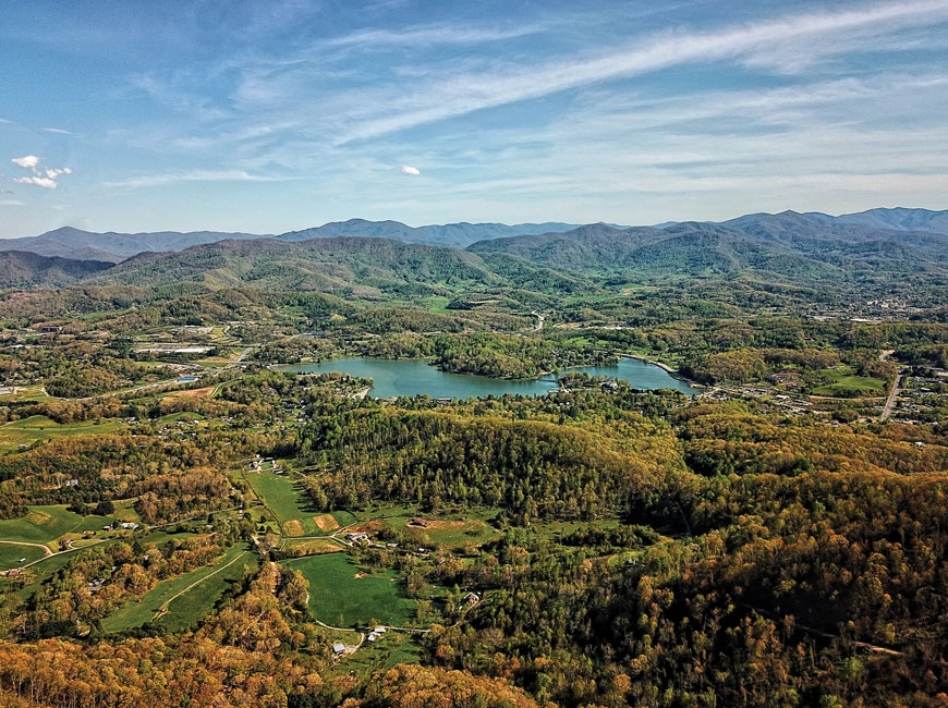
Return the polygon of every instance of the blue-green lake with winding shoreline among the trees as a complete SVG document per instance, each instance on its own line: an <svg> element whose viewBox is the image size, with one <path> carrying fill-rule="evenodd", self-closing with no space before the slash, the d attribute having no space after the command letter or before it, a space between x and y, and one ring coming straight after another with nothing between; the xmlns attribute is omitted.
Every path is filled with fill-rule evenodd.
<svg viewBox="0 0 948 708"><path fill-rule="evenodd" d="M543 395L557 389L557 379L552 375L535 381L491 379L486 376L448 374L422 359L347 357L320 364L297 364L276 368L296 374L342 371L350 376L370 378L375 384L372 395L379 399L420 394L433 399L470 399L505 393ZM688 394L696 392L661 367L635 358L621 358L617 366L576 366L563 369L561 373L566 371L584 371L591 376L622 379L634 389L674 389Z"/></svg>

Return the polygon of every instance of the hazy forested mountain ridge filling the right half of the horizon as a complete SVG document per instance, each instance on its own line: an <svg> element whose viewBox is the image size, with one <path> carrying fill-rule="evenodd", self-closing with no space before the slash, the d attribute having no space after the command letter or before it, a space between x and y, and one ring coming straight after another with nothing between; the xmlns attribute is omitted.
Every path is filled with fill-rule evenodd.
<svg viewBox="0 0 948 708"><path fill-rule="evenodd" d="M855 217L851 220L785 211L661 229L598 223L566 233L482 241L467 251L484 258L503 254L568 272L642 279L755 273L775 282L816 283L879 273L948 277L945 233L880 229L859 221L921 223L934 229L945 215L877 211L851 215Z"/></svg>

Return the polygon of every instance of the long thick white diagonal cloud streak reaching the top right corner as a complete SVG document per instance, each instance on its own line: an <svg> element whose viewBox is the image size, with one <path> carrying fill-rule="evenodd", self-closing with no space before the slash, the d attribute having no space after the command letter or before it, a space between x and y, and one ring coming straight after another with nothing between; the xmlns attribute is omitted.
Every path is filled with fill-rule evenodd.
<svg viewBox="0 0 948 708"><path fill-rule="evenodd" d="M923 0L842 12L786 15L713 32L669 32L633 48L596 57L550 61L494 72L440 74L385 101L382 115L368 117L347 131L342 143L369 139L560 91L671 66L731 60L775 72L794 72L834 53L866 49L865 39L948 20L948 2ZM878 47L875 47L878 48Z"/></svg>

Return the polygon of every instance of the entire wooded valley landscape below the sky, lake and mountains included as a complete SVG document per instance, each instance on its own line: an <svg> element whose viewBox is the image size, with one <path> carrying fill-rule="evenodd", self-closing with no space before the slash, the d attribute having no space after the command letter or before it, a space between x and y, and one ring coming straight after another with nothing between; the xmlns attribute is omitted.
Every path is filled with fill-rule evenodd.
<svg viewBox="0 0 948 708"><path fill-rule="evenodd" d="M0 698L941 705L948 235L858 216L4 252Z"/></svg>

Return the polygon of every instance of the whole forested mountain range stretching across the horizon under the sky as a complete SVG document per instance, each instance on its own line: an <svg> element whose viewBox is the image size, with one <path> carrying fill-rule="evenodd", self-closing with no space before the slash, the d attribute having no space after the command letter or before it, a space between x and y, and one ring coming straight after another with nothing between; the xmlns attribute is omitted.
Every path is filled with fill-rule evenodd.
<svg viewBox="0 0 948 708"><path fill-rule="evenodd" d="M459 223L412 228L355 219L278 236L222 232L96 234L69 227L0 242L0 286L100 283L253 284L362 294L446 292L459 284L567 290L618 277L749 274L815 284L882 274L948 278L948 211L754 213L659 227ZM435 245L440 241L447 244ZM459 246L466 246L464 249ZM57 261L25 259L33 252ZM84 261L69 264L64 259ZM94 260L95 264L87 261ZM110 267L110 264L118 264ZM32 273L32 274L31 274ZM408 289L408 290L406 290Z"/></svg>

